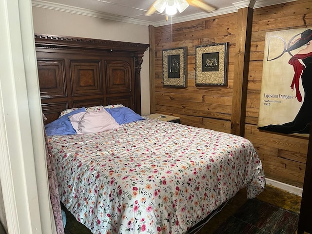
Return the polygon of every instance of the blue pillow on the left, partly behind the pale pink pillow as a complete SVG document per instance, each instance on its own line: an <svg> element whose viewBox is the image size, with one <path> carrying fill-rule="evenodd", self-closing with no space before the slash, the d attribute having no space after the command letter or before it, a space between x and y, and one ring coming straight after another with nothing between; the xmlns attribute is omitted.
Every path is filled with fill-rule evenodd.
<svg viewBox="0 0 312 234"><path fill-rule="evenodd" d="M79 112L86 112L86 110L84 107L81 107L62 117L59 117L58 119L54 120L51 123L46 124L44 127L45 127L45 132L47 133L47 136L77 134L76 130L73 128L73 125L71 124L68 117L75 115Z"/></svg>

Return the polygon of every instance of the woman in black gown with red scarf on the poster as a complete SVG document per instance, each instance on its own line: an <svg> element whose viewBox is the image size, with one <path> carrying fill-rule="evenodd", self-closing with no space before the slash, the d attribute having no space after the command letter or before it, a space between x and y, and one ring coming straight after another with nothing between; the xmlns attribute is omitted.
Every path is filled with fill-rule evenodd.
<svg viewBox="0 0 312 234"><path fill-rule="evenodd" d="M291 88L292 90L295 88L296 98L299 102L302 102L302 96L299 91L300 78L304 90L304 99L298 114L292 122L277 125L271 124L259 127L259 129L285 134L309 133L308 124L312 122L312 30L307 29L301 33L300 39L297 39L294 44L286 50L286 52L290 53L292 50L300 48L304 45L306 47L292 56L288 62L293 66L294 70ZM300 62L300 60L304 65Z"/></svg>

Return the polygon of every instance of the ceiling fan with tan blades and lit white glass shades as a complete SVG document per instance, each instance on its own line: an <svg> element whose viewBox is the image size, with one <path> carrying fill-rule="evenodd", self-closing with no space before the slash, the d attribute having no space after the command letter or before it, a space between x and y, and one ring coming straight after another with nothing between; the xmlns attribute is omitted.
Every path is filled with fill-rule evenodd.
<svg viewBox="0 0 312 234"><path fill-rule="evenodd" d="M153 15L156 11L162 13L164 10L166 15L175 15L176 10L180 13L189 5L201 8L204 11L212 12L215 7L205 3L203 0L156 0L145 13L146 16Z"/></svg>

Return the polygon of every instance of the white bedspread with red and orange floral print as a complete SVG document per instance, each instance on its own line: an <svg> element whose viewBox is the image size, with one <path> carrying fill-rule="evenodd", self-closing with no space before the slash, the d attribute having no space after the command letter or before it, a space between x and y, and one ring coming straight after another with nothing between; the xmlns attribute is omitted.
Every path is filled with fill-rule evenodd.
<svg viewBox="0 0 312 234"><path fill-rule="evenodd" d="M60 199L94 234L183 234L265 187L252 143L213 130L147 119L49 141Z"/></svg>

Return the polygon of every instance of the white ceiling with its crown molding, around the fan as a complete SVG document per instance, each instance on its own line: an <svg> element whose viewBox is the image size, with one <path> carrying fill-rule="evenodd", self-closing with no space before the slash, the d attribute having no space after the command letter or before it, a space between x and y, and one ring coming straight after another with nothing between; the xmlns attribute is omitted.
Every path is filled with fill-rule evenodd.
<svg viewBox="0 0 312 234"><path fill-rule="evenodd" d="M49 9L76 12L109 20L131 22L141 25L161 26L168 24L165 14L156 12L152 16L145 16L155 0L32 0L33 6ZM184 22L188 20L202 19L216 15L236 12L242 7L258 8L275 5L294 0L204 0L215 7L212 13L207 13L200 8L189 6L182 13L172 17L172 22ZM254 3L254 4L253 4ZM169 18L170 19L170 18ZM169 20L170 21L170 20Z"/></svg>

